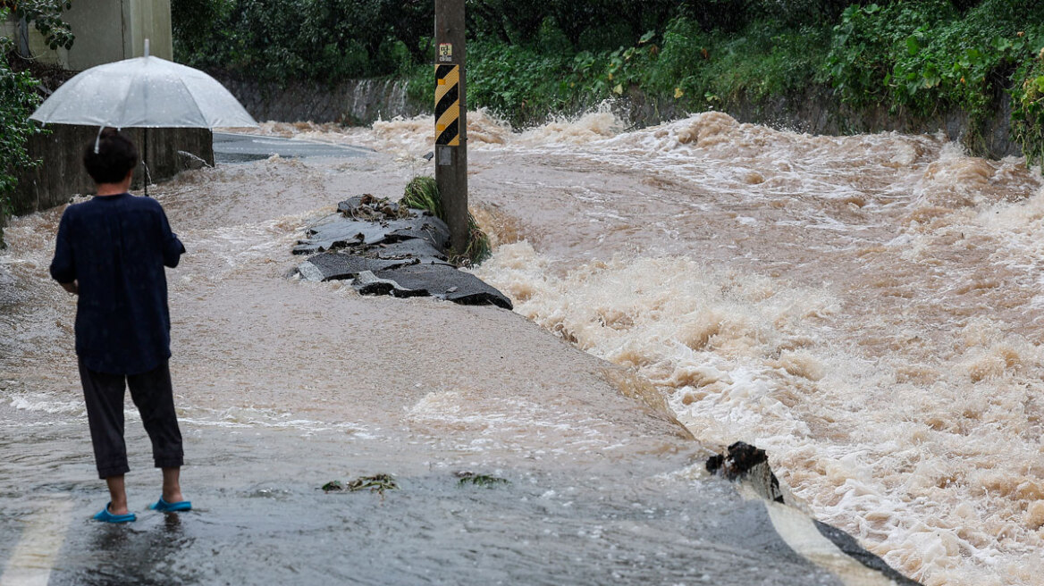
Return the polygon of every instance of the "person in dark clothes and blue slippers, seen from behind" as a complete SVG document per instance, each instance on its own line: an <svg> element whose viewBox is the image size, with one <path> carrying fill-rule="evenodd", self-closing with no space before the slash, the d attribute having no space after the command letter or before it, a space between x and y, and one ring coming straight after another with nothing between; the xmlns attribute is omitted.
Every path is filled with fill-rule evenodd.
<svg viewBox="0 0 1044 586"><path fill-rule="evenodd" d="M181 489L182 434L170 383L170 313L164 267L174 268L185 246L155 199L128 193L138 150L106 128L91 141L84 166L97 195L66 209L58 224L51 276L78 295L76 356L98 477L110 503L94 518L127 522L123 396L141 414L152 443L163 492L149 509L188 511Z"/></svg>

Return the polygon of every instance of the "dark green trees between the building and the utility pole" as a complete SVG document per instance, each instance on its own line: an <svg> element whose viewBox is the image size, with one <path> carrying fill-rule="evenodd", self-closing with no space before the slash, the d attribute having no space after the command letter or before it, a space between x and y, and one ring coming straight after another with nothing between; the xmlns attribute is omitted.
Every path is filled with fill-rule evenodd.
<svg viewBox="0 0 1044 586"><path fill-rule="evenodd" d="M175 60L269 81L400 73L429 55L428 0L173 0Z"/></svg>

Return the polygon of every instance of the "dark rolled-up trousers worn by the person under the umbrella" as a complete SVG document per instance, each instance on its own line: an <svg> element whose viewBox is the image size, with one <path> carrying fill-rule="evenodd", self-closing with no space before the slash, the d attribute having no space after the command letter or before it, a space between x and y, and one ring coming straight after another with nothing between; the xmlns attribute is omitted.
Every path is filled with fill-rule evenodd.
<svg viewBox="0 0 1044 586"><path fill-rule="evenodd" d="M97 372L80 361L79 380L84 385L98 478L118 477L130 470L123 441L123 395L127 387L145 432L152 440L156 467L172 468L184 463L182 432L177 428L167 361L141 374Z"/></svg>

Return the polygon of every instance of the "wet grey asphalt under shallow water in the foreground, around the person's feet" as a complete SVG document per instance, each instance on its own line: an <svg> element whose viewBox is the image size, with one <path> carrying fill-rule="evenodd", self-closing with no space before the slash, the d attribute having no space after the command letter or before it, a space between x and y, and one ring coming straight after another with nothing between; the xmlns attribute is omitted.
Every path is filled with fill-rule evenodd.
<svg viewBox="0 0 1044 586"><path fill-rule="evenodd" d="M104 491L92 478L89 446L76 440L86 421L26 429L18 424L24 414L2 409L5 586L841 584L780 539L762 502L718 479L671 474L655 462L572 470L536 462L480 465L474 471L511 484L460 486L454 472L469 467L467 459L410 435L186 425L193 465L183 484L194 510L164 515L145 510L159 474L147 450L135 449L147 439L129 422L128 494L139 520L99 523L90 515ZM400 443L404 457L373 461L366 448L375 441ZM326 465L298 463L302 453ZM377 472L392 473L400 489L319 489ZM35 559L27 562L19 548L33 539Z"/></svg>

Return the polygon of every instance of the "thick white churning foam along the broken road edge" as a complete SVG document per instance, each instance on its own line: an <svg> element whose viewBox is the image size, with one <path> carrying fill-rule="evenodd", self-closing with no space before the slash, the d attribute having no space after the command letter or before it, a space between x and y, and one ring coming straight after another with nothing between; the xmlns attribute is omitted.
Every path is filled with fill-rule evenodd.
<svg viewBox="0 0 1044 586"><path fill-rule="evenodd" d="M950 372L871 362L825 336L838 311L827 291L688 259L616 259L561 278L546 265L519 243L478 274L519 313L668 389L701 440L767 449L821 518L926 584L1033 583L1018 577L1039 563L1044 484L1039 423L1022 406L1041 384L1004 372L1012 361L1039 372L1039 347L970 324ZM918 366L940 380L897 382Z"/></svg>

